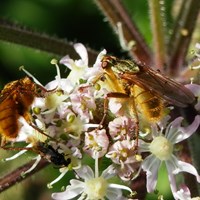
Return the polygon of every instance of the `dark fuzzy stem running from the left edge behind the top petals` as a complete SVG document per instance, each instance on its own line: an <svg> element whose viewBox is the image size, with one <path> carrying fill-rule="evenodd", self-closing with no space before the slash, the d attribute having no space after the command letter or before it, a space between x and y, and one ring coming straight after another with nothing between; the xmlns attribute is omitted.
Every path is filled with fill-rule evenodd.
<svg viewBox="0 0 200 200"><path fill-rule="evenodd" d="M2 19L0 19L0 40L39 49L58 56L69 54L73 59L79 59L72 42L33 32ZM89 48L87 49L89 61L93 64L97 53Z"/></svg>

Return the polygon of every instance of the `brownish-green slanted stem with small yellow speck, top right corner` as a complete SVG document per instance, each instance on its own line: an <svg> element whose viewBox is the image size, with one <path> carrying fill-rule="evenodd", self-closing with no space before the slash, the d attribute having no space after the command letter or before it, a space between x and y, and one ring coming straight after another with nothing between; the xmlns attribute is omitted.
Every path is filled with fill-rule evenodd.
<svg viewBox="0 0 200 200"><path fill-rule="evenodd" d="M168 45L169 72L170 76L177 76L181 66L185 62L185 57L190 44L193 30L196 25L200 8L199 0L184 0L180 8L179 16Z"/></svg>

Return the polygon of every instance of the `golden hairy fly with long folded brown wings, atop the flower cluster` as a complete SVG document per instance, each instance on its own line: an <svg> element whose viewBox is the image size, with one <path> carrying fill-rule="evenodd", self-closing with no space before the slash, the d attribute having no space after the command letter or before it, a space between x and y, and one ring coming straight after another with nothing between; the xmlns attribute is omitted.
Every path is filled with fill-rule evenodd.
<svg viewBox="0 0 200 200"><path fill-rule="evenodd" d="M131 99L137 119L139 111L146 121L159 121L164 112L164 100L178 107L187 107L196 101L193 93L182 84L135 61L104 56L102 68L112 90L107 97Z"/></svg>

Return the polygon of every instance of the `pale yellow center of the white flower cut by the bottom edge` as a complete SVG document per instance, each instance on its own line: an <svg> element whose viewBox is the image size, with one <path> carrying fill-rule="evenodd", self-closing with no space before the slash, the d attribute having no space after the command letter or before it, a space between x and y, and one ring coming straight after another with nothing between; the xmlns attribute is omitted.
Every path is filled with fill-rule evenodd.
<svg viewBox="0 0 200 200"><path fill-rule="evenodd" d="M85 182L84 192L90 200L104 199L108 183L103 177L97 177Z"/></svg>

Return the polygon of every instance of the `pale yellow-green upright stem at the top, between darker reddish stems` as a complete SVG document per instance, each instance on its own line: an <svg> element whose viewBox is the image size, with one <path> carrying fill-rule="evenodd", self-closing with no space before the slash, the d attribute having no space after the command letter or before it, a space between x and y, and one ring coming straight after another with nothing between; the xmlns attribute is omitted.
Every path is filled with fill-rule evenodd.
<svg viewBox="0 0 200 200"><path fill-rule="evenodd" d="M163 70L166 55L163 0L151 0L148 3L153 33L153 46L155 48L155 65L156 68Z"/></svg>

